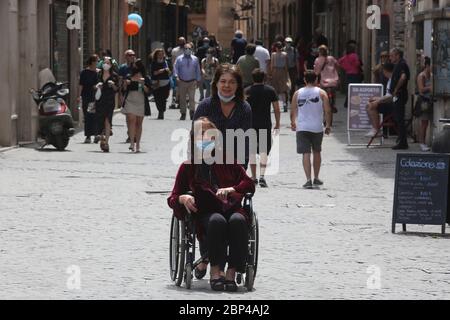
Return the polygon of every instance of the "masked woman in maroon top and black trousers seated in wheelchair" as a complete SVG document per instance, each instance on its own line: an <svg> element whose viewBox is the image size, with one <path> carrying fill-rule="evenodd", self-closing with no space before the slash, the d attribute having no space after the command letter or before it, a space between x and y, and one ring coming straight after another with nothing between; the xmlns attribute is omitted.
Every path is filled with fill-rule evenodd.
<svg viewBox="0 0 450 320"><path fill-rule="evenodd" d="M255 185L242 166L214 161L217 132L207 118L194 123L191 160L181 165L168 203L177 219L192 217L195 221L196 233L205 246L201 251L207 254L199 264L205 269L206 259L211 264L211 289L235 292L237 273L246 272L249 224L254 219L242 202L255 192Z"/></svg>

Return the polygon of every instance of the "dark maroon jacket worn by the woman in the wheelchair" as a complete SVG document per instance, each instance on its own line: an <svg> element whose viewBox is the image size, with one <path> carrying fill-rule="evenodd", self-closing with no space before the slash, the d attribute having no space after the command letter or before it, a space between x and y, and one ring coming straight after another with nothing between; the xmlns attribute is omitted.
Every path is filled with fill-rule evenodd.
<svg viewBox="0 0 450 320"><path fill-rule="evenodd" d="M173 209L174 215L178 219L184 219L186 208L178 200L180 196L191 191L194 193L198 214L241 213L249 219L250 217L247 217L247 213L242 208L242 201L247 193L255 192L252 179L248 177L242 166L237 164L214 164L212 170L220 189L232 187L236 193L232 194L227 201L219 199L209 182L194 179L194 166L184 163L178 171L175 186L168 199L169 207Z"/></svg>

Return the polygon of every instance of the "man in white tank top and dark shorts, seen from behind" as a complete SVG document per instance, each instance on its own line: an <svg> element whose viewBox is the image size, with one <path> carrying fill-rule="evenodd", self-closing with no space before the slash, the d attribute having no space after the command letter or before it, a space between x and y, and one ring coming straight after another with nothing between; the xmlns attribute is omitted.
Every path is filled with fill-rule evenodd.
<svg viewBox="0 0 450 320"><path fill-rule="evenodd" d="M328 94L316 86L317 74L314 71L306 72L305 84L306 87L297 91L292 100L291 125L292 130L297 133L297 153L303 155L303 168L307 179L303 188L312 189L314 186L323 185L320 180L322 142L324 132L326 135L331 132L332 111ZM314 181L311 168L314 170Z"/></svg>

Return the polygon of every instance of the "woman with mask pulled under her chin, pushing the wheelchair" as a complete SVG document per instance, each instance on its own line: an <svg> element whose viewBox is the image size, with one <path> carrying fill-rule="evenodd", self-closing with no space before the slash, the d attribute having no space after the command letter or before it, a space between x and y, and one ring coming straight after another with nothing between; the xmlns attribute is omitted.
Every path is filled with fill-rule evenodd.
<svg viewBox="0 0 450 320"><path fill-rule="evenodd" d="M212 83L212 96L200 103L194 120L201 117L210 119L222 133L222 150L227 150L227 133L236 133L239 130L246 133L252 127L252 109L244 100L242 75L232 65L224 64L217 69ZM233 158L227 160L237 159L239 164L247 169L250 157L249 141L247 140L245 145L238 144L238 141L236 137L234 155L227 150L227 156Z"/></svg>

